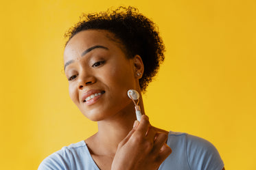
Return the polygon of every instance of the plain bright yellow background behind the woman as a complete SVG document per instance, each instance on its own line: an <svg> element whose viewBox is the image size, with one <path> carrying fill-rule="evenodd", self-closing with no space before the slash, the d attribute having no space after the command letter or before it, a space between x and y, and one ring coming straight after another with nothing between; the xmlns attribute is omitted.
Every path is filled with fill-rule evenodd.
<svg viewBox="0 0 256 170"><path fill-rule="evenodd" d="M63 34L82 12L134 5L166 60L143 96L154 126L203 137L226 169L256 169L255 1L2 1L0 169L37 169L97 131L71 102Z"/></svg>

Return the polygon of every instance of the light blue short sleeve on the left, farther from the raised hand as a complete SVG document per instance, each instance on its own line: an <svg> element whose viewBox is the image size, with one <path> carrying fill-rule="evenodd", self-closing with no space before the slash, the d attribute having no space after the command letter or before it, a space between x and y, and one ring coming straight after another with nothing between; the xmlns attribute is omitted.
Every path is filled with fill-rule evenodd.
<svg viewBox="0 0 256 170"><path fill-rule="evenodd" d="M38 170L69 170L68 150L60 150L45 158L39 165Z"/></svg>

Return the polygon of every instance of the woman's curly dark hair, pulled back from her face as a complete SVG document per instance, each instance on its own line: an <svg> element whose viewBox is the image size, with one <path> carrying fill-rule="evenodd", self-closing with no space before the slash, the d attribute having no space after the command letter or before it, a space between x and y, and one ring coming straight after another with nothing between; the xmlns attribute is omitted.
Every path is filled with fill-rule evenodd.
<svg viewBox="0 0 256 170"><path fill-rule="evenodd" d="M141 91L146 91L148 83L152 81L159 70L159 64L165 58L163 55L165 46L155 23L140 14L137 8L130 6L83 14L80 21L65 33L65 38L68 38L66 45L76 33L88 29L103 29L113 33L124 45L128 58L133 58L135 55L141 57L144 72L139 79L139 85Z"/></svg>

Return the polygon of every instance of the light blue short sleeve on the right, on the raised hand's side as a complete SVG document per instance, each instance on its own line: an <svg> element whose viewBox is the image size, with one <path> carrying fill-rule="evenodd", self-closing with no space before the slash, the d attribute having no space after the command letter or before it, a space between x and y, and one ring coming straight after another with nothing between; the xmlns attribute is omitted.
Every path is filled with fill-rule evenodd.
<svg viewBox="0 0 256 170"><path fill-rule="evenodd" d="M191 170L222 170L224 163L209 141L187 134L187 161Z"/></svg>

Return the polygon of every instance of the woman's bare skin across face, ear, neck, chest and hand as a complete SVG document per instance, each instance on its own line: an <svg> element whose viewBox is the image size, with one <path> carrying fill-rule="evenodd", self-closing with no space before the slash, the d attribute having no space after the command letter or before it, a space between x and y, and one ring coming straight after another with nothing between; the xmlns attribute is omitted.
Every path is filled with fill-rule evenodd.
<svg viewBox="0 0 256 170"><path fill-rule="evenodd" d="M142 98L143 116L135 121L127 91L136 89L141 96L143 61L139 55L128 59L116 40L104 30L80 31L69 40L64 52L69 96L84 116L97 122L98 132L85 142L100 169L158 169L172 152L165 143L168 132L150 125ZM90 90L104 94L87 104L82 96Z"/></svg>

